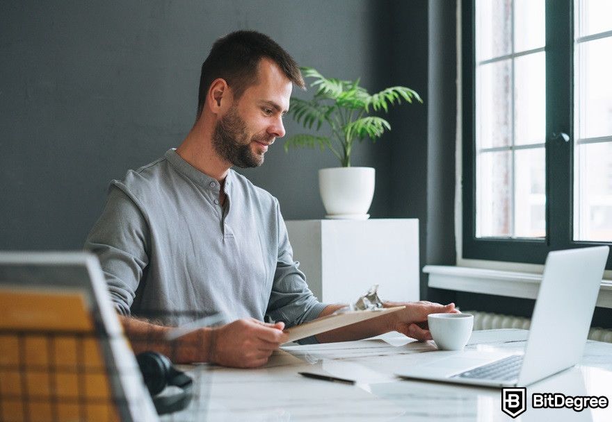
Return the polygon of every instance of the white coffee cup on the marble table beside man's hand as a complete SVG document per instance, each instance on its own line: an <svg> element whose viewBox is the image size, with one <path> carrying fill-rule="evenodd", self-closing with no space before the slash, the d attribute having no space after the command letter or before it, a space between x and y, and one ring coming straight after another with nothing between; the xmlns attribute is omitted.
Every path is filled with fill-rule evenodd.
<svg viewBox="0 0 612 422"><path fill-rule="evenodd" d="M437 348L443 351L460 351L472 335L474 315L429 314L427 323Z"/></svg>

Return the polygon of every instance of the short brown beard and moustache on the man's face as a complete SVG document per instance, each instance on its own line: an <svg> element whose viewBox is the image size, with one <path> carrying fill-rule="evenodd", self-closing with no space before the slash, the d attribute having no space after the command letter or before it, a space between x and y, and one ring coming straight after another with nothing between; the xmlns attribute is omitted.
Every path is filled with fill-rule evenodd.
<svg viewBox="0 0 612 422"><path fill-rule="evenodd" d="M249 139L245 121L238 115L236 107L232 106L215 128L213 146L216 153L241 169L259 167L264 163L264 154L251 150L252 141L270 142L271 137L264 133Z"/></svg>

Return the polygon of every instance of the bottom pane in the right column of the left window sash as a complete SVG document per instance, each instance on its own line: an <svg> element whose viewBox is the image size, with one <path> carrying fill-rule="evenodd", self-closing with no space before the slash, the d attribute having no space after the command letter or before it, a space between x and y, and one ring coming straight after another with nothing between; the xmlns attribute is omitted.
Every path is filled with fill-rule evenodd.
<svg viewBox="0 0 612 422"><path fill-rule="evenodd" d="M516 237L546 235L545 149L515 152L515 233Z"/></svg>

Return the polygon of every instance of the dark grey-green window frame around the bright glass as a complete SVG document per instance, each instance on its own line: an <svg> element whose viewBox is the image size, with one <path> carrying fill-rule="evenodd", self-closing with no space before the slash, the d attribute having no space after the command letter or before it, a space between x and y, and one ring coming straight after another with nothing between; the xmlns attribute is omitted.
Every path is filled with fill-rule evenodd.
<svg viewBox="0 0 612 422"><path fill-rule="evenodd" d="M545 238L476 237L476 0L463 0L461 8L462 258L543 264L549 251L612 244L573 239L574 0L545 1ZM569 142L553 139L561 132ZM612 254L606 269L612 269Z"/></svg>

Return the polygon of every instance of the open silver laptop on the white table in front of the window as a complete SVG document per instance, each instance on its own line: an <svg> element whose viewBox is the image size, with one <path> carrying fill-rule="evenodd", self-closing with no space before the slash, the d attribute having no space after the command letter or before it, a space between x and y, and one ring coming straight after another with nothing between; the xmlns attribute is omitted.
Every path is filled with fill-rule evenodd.
<svg viewBox="0 0 612 422"><path fill-rule="evenodd" d="M415 365L401 378L524 387L570 368L582 357L609 246L548 254L523 353L435 351L440 358Z"/></svg>

